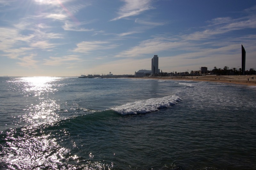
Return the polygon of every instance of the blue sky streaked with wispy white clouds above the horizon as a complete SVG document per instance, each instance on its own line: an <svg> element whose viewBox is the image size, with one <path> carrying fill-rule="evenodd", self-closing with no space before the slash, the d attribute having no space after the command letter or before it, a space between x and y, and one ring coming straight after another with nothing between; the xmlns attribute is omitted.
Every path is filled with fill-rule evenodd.
<svg viewBox="0 0 256 170"><path fill-rule="evenodd" d="M256 69L255 0L0 0L0 76Z"/></svg>

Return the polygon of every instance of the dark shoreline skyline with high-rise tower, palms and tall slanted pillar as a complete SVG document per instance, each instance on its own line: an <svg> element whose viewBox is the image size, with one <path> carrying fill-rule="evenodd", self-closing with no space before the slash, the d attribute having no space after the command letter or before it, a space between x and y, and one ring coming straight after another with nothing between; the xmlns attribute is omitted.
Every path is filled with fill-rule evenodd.
<svg viewBox="0 0 256 170"><path fill-rule="evenodd" d="M245 74L255 74L256 71L251 68L250 71L245 71L245 49L242 45L242 67L236 69L235 67L232 67L232 69L228 70L228 66L225 66L223 69L217 69L217 67L214 67L212 70L208 70L207 67L200 67L200 70L197 71L190 71L188 70L186 72L177 73L177 72L170 72L170 73L163 73L162 70L160 72L159 69L159 58L157 55L154 55L154 57L151 59L151 70L139 70L132 74L125 74L125 75L113 75L111 72L107 75L99 75L99 74L88 74L81 75L79 78L122 78L122 77L148 77L148 76L188 76L188 75L206 75L206 74L219 74L219 75L245 75Z"/></svg>

